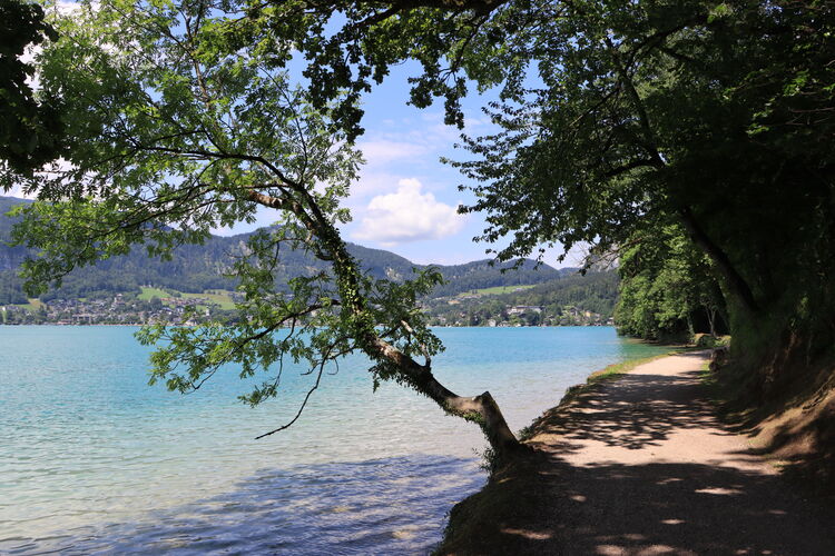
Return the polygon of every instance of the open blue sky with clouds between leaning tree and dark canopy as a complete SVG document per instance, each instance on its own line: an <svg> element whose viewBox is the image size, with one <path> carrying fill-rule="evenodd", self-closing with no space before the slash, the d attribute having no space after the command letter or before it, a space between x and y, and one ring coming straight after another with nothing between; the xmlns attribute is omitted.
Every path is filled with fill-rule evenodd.
<svg viewBox="0 0 835 556"><path fill-rule="evenodd" d="M365 133L357 146L366 163L346 201L353 221L342 228L343 236L414 262L450 265L483 259L490 246L473 241L484 229L483 216L456 212L460 203L468 205L474 198L469 191L458 190L465 178L440 161L441 157L466 157L465 151L453 148L461 131L443 123L442 103L426 109L407 105L406 78L418 71L415 64L395 67L385 82L364 98ZM478 136L491 128L481 107L497 93L478 95L474 87L471 89L462 105L466 131ZM233 231L268 225L271 218L265 211L255 226ZM576 257L558 265L558 255L549 250L546 262L578 265Z"/></svg>

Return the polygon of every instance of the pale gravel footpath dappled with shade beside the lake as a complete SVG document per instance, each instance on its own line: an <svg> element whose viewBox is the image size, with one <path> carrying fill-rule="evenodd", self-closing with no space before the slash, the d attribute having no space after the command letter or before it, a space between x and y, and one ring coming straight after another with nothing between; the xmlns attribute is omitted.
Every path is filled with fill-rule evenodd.
<svg viewBox="0 0 835 556"><path fill-rule="evenodd" d="M554 509L502 533L537 554L835 555L832 508L714 416L707 356L639 366L544 419L537 495Z"/></svg>

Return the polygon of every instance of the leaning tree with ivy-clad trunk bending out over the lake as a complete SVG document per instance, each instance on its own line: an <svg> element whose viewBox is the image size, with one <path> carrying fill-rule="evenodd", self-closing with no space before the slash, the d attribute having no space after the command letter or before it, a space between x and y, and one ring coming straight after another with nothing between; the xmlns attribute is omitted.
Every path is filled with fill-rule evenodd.
<svg viewBox="0 0 835 556"><path fill-rule="evenodd" d="M266 378L243 396L258 404L279 388L282 363L305 361L315 381L340 357L360 351L374 385L395 380L446 413L478 423L492 449L520 449L489 393L462 397L440 384L432 356L441 348L416 298L435 285L429 269L414 280L373 280L348 254L337 225L356 178L360 153L338 132L328 107L311 106L275 57L294 47L268 29L233 44L227 22L245 17L235 2L189 0L85 3L57 17L61 40L39 58L41 87L60 111L75 148L67 163L27 177L39 202L21 207L18 241L40 250L24 264L27 286L42 290L77 266L145 245L165 257L209 230L252 221L259 207L279 226L252 236L235 265L245 300L236 325L149 327L156 344L151 381L199 388L224 365ZM343 100L336 95L337 101ZM303 249L330 267L277 291L284 249ZM422 359L419 363L416 359Z"/></svg>

